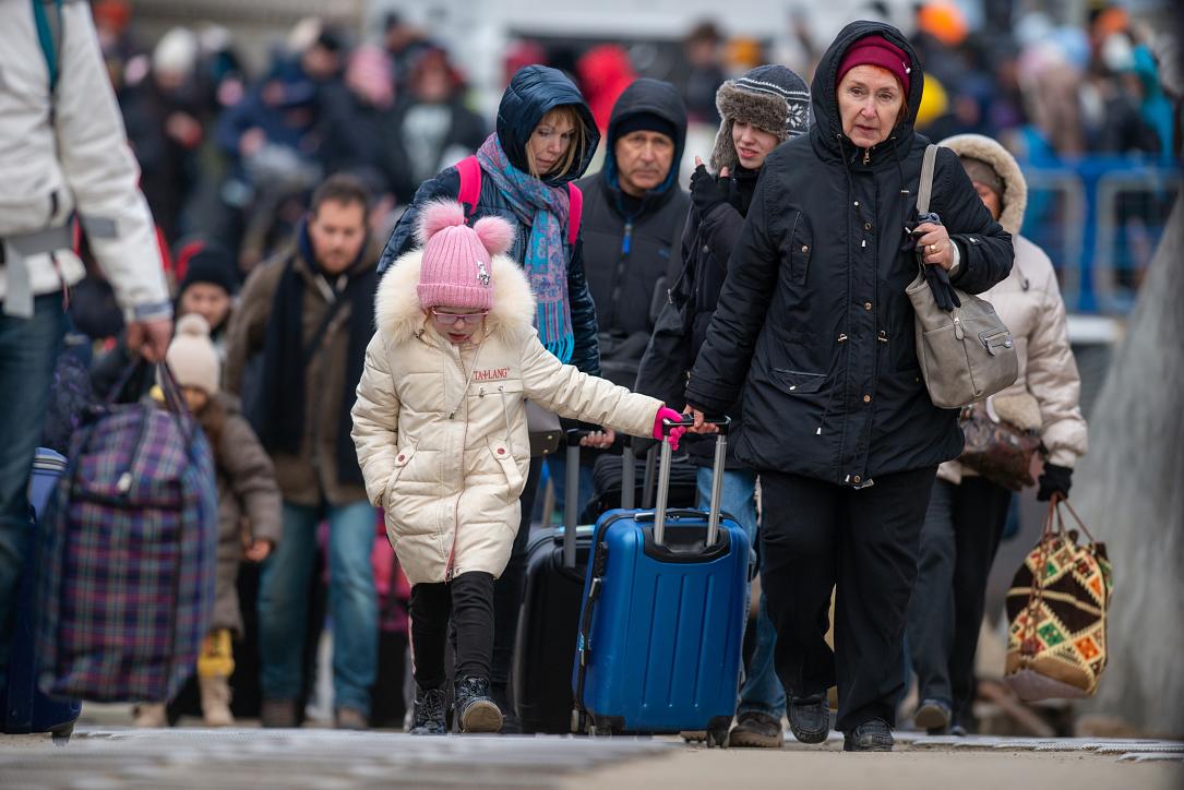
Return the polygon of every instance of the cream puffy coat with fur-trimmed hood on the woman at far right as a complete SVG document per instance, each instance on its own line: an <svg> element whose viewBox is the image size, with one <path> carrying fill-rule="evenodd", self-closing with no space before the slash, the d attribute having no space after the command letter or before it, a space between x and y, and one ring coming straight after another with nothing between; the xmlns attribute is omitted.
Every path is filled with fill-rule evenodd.
<svg viewBox="0 0 1184 790"><path fill-rule="evenodd" d="M995 140L982 135L957 135L941 141L959 156L986 162L1003 180L999 224L1011 233L1015 264L1008 277L979 294L995 306L1011 330L1019 358L1015 384L991 397L993 411L1008 422L1040 432L1048 448L1048 462L1073 468L1088 448L1085 417L1079 397L1081 379L1069 348L1064 301L1048 255L1019 235L1028 185L1019 165ZM967 474L957 461L947 461L938 475L959 482Z"/></svg>

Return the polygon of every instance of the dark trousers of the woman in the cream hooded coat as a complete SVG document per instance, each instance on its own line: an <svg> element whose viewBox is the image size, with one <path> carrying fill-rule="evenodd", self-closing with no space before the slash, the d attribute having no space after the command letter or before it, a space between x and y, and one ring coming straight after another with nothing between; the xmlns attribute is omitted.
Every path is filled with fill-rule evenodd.
<svg viewBox="0 0 1184 790"><path fill-rule="evenodd" d="M939 699L954 721L971 724L974 651L986 577L1008 521L1011 492L982 477L933 483L921 529L916 587L908 611L908 649L920 696Z"/></svg>

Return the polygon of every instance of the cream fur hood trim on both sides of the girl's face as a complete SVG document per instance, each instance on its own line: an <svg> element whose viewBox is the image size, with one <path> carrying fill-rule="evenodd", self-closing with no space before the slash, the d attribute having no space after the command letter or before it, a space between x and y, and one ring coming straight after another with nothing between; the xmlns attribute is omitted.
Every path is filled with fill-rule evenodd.
<svg viewBox="0 0 1184 790"><path fill-rule="evenodd" d="M374 297L374 322L393 345L407 342L425 326L416 287L423 263L423 249L400 256L378 285ZM534 323L534 293L526 274L513 258L497 255L493 258L494 307L485 319L488 334L513 334Z"/></svg>

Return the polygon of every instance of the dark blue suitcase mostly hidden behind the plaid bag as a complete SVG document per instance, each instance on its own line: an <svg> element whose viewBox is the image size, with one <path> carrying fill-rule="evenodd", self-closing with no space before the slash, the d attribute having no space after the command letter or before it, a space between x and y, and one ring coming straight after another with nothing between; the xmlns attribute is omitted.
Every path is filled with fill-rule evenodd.
<svg viewBox="0 0 1184 790"><path fill-rule="evenodd" d="M65 473L66 460L47 448L38 448L33 458L33 470L28 479L28 503L40 521L50 494ZM82 713L82 701L49 696L37 687L34 661L34 631L37 617L33 611L36 596L37 546L34 529L30 529L25 551L25 567L20 574L17 606L13 612L13 634L8 649L8 680L5 694L4 732L51 732L69 737L75 721Z"/></svg>

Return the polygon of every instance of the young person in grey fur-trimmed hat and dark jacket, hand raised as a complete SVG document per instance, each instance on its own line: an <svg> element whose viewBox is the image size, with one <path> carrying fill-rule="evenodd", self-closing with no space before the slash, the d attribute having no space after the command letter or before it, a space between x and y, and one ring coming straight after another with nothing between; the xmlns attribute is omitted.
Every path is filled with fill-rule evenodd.
<svg viewBox="0 0 1184 790"><path fill-rule="evenodd" d="M765 158L810 126L809 89L802 77L785 66L757 66L739 79L729 79L716 91L715 105L722 121L712 149L710 172L695 158L691 207L682 237L684 271L674 294L684 306L684 321L677 327L658 321L658 334L645 352L637 379L639 391L667 397L671 403L681 403L687 367L703 345ZM686 360L687 365L671 365L670 360ZM740 412L729 413L738 429ZM712 493L712 443L691 436L687 439L690 457L699 467L699 499L707 502ZM723 509L738 518L754 546L755 486L755 473L736 462L729 447ZM773 670L776 640L762 595L757 614L757 647L745 667L736 725L728 739L731 746L779 749L784 743L785 691Z"/></svg>

